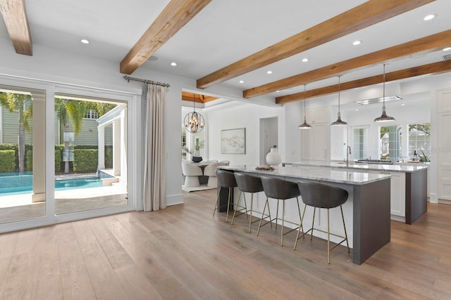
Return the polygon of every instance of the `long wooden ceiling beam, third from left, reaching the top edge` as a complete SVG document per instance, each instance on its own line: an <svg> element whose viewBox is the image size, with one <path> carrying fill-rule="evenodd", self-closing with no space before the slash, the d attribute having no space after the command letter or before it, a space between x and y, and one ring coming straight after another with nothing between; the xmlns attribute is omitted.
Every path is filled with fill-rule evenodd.
<svg viewBox="0 0 451 300"><path fill-rule="evenodd" d="M319 25L299 32L288 39L269 46L242 60L223 67L205 77L197 79L197 88L206 89L214 84L233 79L247 72L252 72L276 63L297 53L307 51L328 41L362 30L395 15L400 15L435 0L369 0L364 4L345 11Z"/></svg>

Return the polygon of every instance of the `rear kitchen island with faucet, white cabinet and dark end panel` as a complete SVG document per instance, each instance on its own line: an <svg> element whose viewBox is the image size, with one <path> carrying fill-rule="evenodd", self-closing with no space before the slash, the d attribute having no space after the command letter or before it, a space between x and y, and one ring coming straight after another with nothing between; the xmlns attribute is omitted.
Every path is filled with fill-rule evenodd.
<svg viewBox="0 0 451 300"><path fill-rule="evenodd" d="M428 167L424 164L365 164L357 162L283 162L284 167L329 167L336 170L356 171L391 176L390 214L395 221L412 224L426 214L428 202Z"/></svg>

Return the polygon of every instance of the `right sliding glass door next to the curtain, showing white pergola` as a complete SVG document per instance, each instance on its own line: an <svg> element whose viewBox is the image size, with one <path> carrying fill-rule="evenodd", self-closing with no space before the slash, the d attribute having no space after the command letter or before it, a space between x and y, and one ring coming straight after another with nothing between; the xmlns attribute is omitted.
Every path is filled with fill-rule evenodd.
<svg viewBox="0 0 451 300"><path fill-rule="evenodd" d="M55 107L55 214L127 205L127 103L57 94Z"/></svg>

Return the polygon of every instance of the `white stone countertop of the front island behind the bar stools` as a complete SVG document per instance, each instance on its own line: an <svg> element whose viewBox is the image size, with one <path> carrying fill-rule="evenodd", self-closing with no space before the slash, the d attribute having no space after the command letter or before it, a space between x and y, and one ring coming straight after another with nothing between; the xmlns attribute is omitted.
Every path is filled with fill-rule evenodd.
<svg viewBox="0 0 451 300"><path fill-rule="evenodd" d="M240 166L221 166L218 169L226 169L233 171L244 171L259 175L273 175L285 178L310 179L316 181L324 181L331 183L346 183L351 185L364 185L390 178L385 174L368 174L362 172L337 171L330 167L319 166L298 166L298 167L281 167L272 171L257 170L256 165L240 165Z"/></svg>

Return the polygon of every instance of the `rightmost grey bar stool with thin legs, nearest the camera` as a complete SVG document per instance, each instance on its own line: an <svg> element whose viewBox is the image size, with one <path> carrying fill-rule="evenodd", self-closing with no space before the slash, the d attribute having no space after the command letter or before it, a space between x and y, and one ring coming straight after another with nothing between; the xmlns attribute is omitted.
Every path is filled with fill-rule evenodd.
<svg viewBox="0 0 451 300"><path fill-rule="evenodd" d="M327 233L327 263L330 263L330 251L335 249L339 244L346 241L347 244L347 252L350 253L350 245L347 242L347 233L346 233L346 226L345 226L345 217L343 216L343 209L342 204L345 204L347 201L347 190L344 190L342 188L338 188L333 185L328 185L325 183L318 183L318 182L312 182L312 181L299 181L297 183L299 186L299 190L302 197L302 202L304 202L305 207L304 211L302 212L302 218L304 218L305 209L307 208L307 205L310 207L314 207L313 211L313 221L311 222L311 228L307 230L305 233L302 233L301 237L304 237L309 231L311 230L311 237L310 240L313 239L313 230L318 230L323 233ZM316 207L327 209L327 231L314 228L314 221L315 221L315 212ZM343 221L343 228L345 228L345 236L342 235L336 235L334 233L330 233L329 228L329 209L332 209L334 207L340 207L341 211L341 218ZM297 241L299 240L299 234L300 231L297 232L296 236L296 242L295 242L295 250L297 246ZM330 248L330 235L334 235L336 237L341 237L343 240L339 242L338 244L335 244L334 247Z"/></svg>

